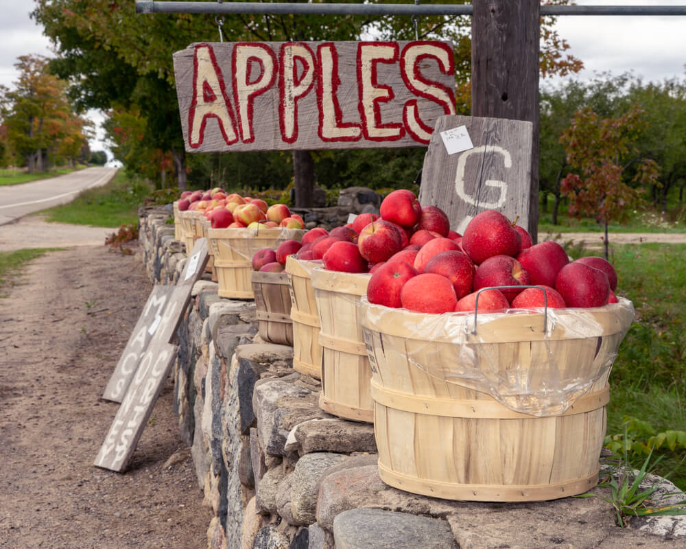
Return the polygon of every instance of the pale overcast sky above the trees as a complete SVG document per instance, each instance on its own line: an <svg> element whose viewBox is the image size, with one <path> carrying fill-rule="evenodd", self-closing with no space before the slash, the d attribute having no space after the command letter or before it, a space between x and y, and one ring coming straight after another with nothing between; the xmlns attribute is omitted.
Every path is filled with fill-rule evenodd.
<svg viewBox="0 0 686 549"><path fill-rule="evenodd" d="M131 0L132 1L132 0ZM448 0L445 0L449 3ZM578 5L686 5L686 0L577 0ZM9 88L17 78L14 63L25 54L51 56L49 41L29 17L34 3L0 0L0 84ZM632 71L643 80L662 82L686 75L686 16L560 16L557 29L571 46L571 54L586 69L576 78L594 73L614 75ZM97 113L90 116L99 121ZM93 150L102 149L98 140Z"/></svg>

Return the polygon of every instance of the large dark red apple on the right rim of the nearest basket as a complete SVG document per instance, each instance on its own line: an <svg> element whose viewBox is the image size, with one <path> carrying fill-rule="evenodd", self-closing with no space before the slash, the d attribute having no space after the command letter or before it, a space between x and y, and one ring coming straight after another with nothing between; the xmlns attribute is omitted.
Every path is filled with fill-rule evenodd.
<svg viewBox="0 0 686 549"><path fill-rule="evenodd" d="M568 307L602 307L610 296L607 275L579 261L572 261L560 269L555 289Z"/></svg>

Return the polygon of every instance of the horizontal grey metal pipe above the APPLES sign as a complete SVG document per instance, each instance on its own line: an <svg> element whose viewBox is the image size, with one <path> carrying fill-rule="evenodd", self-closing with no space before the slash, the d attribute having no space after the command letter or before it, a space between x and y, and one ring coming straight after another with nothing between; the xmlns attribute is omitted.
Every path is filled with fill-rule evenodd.
<svg viewBox="0 0 686 549"><path fill-rule="evenodd" d="M351 4L136 0L136 13L472 15L471 4ZM686 15L686 5L542 5L541 15Z"/></svg>

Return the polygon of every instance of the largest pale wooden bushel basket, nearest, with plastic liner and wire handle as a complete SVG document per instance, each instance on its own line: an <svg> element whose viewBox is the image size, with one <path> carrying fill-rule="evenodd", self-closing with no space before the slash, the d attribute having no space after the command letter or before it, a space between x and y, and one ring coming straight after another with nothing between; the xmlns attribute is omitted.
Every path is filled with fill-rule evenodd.
<svg viewBox="0 0 686 549"><path fill-rule="evenodd" d="M585 338L572 330L567 333L563 321L545 338L543 314L531 312L497 315L493 323L482 319L487 322L478 326L478 342L470 339L468 329L449 327L443 335L432 332L431 339L421 338L417 334L423 333L427 315L367 303L365 307L379 476L384 482L436 498L492 502L554 500L598 483L608 364L631 324L629 301L596 309L558 309L558 318L565 311L581 311L591 320L593 334ZM449 316L459 325L455 315ZM473 325L473 315L457 318L470 319ZM466 342L455 342L458 331ZM561 378L578 375L590 383L600 377L563 413L517 412L489 393L464 386L468 383L445 380L449 367L442 371L443 364L452 361L453 371L459 369L459 357L466 356L460 351L466 347L478 368L507 376L517 375L517 366L517 372L523 369L537 386L545 381L536 379L544 353L552 357ZM431 361L439 365L418 367Z"/></svg>

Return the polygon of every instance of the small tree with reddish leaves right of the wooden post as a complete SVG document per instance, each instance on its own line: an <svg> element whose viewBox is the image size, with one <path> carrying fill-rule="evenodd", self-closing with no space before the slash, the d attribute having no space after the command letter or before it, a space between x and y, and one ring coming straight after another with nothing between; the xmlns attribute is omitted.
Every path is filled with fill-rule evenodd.
<svg viewBox="0 0 686 549"><path fill-rule="evenodd" d="M644 127L639 106L617 118L602 118L585 107L560 137L567 163L575 169L563 178L560 189L569 199L569 215L594 216L604 224L605 257L608 223L626 218L641 204L645 189L658 182L657 163L635 146ZM628 168L632 169L629 177Z"/></svg>

